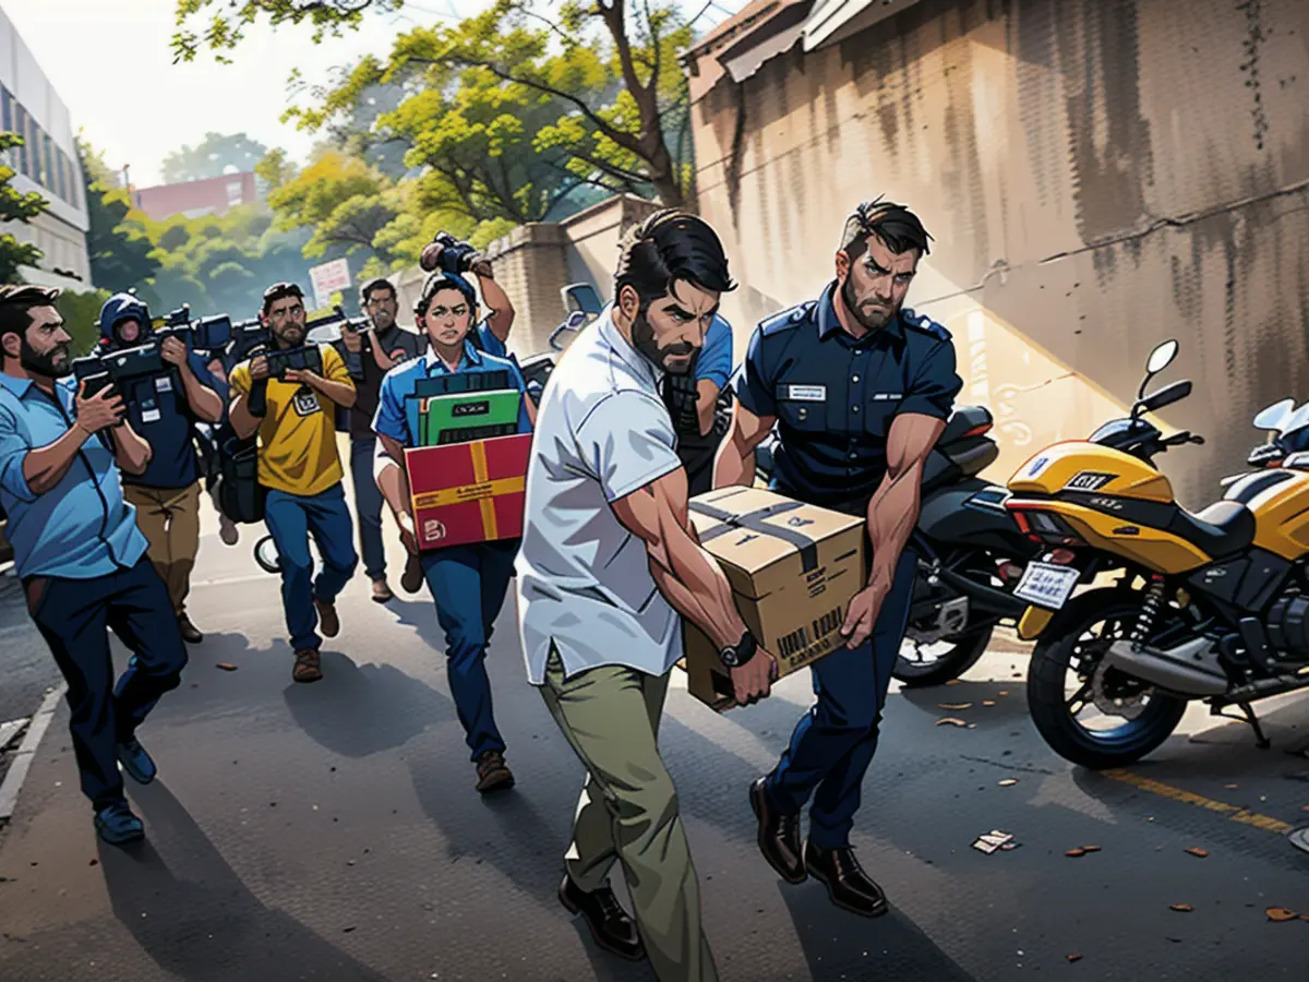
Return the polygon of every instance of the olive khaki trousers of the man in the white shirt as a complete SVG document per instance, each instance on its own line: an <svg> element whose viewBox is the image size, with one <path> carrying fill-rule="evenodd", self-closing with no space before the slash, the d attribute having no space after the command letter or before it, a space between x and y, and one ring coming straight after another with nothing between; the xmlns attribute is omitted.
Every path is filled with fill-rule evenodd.
<svg viewBox="0 0 1309 982"><path fill-rule="evenodd" d="M677 791L657 746L668 674L603 665L565 680L551 648L541 694L586 767L568 875L590 892L620 863L660 982L716 982Z"/></svg>

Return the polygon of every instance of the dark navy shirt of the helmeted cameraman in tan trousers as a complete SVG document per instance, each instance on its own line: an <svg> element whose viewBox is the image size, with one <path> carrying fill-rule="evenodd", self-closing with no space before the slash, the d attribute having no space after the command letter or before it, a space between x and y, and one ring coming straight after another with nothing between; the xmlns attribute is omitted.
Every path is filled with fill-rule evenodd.
<svg viewBox="0 0 1309 982"><path fill-rule="evenodd" d="M212 389L226 406L228 386L209 373L204 359L194 351L187 352L186 357L196 381L206 389ZM123 393L123 402L132 429L151 445L151 462L145 473L123 474L123 483L174 490L190 487L199 481L195 424L200 420L191 411L181 373L173 371L161 378L143 378L136 382L135 391Z"/></svg>

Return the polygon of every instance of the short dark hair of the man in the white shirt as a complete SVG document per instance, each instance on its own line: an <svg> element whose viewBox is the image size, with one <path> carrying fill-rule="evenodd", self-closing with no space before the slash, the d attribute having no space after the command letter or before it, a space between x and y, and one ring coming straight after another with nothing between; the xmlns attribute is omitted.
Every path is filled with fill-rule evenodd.
<svg viewBox="0 0 1309 982"><path fill-rule="evenodd" d="M685 280L702 289L736 289L719 234L704 219L675 208L651 215L623 237L614 272L614 300L631 287L644 310Z"/></svg>

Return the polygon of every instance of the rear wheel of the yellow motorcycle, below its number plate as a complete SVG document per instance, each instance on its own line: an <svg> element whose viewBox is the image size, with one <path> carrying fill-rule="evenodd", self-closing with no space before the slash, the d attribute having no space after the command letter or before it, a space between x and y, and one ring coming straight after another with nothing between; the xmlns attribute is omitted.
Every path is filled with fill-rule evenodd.
<svg viewBox="0 0 1309 982"><path fill-rule="evenodd" d="M1121 589L1084 593L1056 615L1031 653L1031 721L1066 761L1092 770L1135 763L1168 740L1186 712L1185 699L1117 669L1100 670L1109 646L1131 634L1140 609L1140 597ZM1079 719L1088 708L1107 725Z"/></svg>

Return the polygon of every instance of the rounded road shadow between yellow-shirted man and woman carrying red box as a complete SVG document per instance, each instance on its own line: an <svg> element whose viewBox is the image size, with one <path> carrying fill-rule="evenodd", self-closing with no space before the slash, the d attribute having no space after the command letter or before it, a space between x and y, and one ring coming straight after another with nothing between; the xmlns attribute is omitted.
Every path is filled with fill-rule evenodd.
<svg viewBox="0 0 1309 982"><path fill-rule="evenodd" d="M321 681L291 682L283 697L296 724L343 757L391 750L456 719L445 695L394 665L360 666L340 652L325 651L322 670Z"/></svg>

